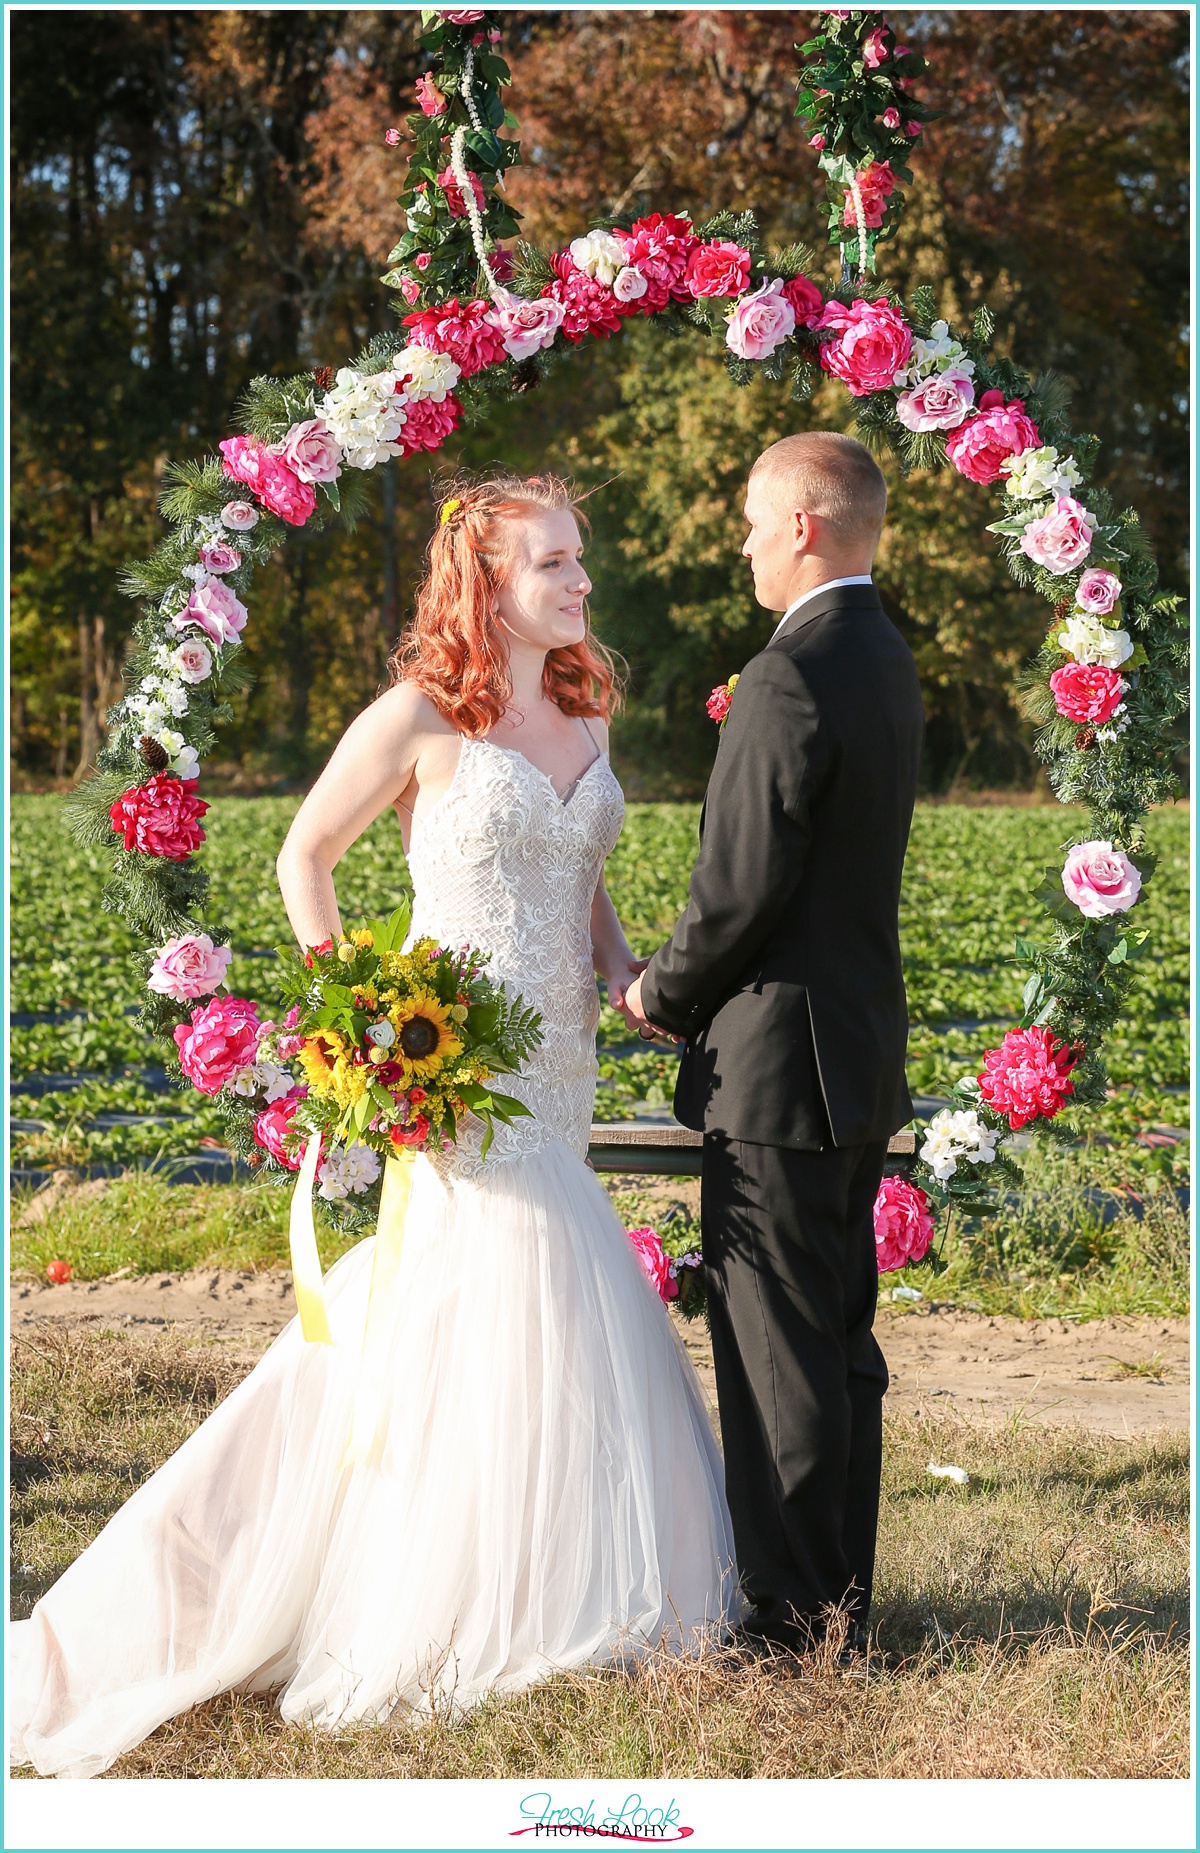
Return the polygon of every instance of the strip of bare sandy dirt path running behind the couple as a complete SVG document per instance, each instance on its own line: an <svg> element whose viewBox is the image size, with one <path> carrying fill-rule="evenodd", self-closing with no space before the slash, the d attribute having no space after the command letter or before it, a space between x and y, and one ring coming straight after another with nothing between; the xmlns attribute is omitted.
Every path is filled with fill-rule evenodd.
<svg viewBox="0 0 1200 1853"><path fill-rule="evenodd" d="M17 1280L15 1330L44 1319L146 1329L269 1343L293 1316L291 1273L204 1267L135 1279ZM1189 1327L1185 1319L991 1319L972 1312L885 1306L876 1327L893 1375L889 1403L956 1410L969 1421L1078 1423L1096 1434L1187 1429ZM680 1323L715 1405L713 1355L702 1323Z"/></svg>

